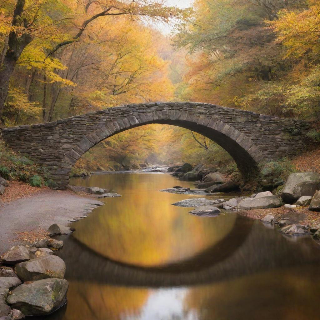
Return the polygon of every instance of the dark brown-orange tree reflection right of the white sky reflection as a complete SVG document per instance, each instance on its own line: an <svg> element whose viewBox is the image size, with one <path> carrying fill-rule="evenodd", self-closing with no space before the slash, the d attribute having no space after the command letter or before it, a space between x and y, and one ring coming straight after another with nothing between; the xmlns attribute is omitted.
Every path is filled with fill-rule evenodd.
<svg viewBox="0 0 320 320"><path fill-rule="evenodd" d="M320 302L318 266L285 268L190 288L198 319L309 320Z"/></svg>

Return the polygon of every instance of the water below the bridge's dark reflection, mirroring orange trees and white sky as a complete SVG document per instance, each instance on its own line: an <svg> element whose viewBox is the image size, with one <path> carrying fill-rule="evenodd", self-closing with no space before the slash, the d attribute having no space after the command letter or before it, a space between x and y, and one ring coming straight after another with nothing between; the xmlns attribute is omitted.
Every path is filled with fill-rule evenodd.
<svg viewBox="0 0 320 320"><path fill-rule="evenodd" d="M315 267L302 270L286 268L207 285L159 289L71 281L68 296L72 298L63 320L317 319L318 296L311 286L320 276Z"/></svg>

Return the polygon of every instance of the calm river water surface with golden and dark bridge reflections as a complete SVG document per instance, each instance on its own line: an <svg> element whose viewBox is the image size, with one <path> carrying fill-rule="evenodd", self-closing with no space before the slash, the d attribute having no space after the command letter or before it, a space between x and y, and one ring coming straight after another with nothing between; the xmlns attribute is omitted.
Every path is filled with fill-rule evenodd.
<svg viewBox="0 0 320 320"><path fill-rule="evenodd" d="M192 186L169 174L123 173L74 179L121 198L61 237L68 305L50 320L304 320L318 316L320 251L309 237L225 212L193 216L171 204ZM209 198L225 198L219 195ZM320 316L319 316L320 317Z"/></svg>

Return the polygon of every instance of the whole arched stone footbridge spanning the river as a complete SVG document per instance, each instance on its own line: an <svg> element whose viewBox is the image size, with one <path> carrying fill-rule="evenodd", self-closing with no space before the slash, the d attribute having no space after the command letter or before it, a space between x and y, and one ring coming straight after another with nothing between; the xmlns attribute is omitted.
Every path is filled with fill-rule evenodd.
<svg viewBox="0 0 320 320"><path fill-rule="evenodd" d="M130 104L50 123L4 128L15 151L46 166L60 188L90 148L108 137L144 124L172 124L198 132L224 148L246 177L265 160L291 156L308 147L310 123L195 102Z"/></svg>

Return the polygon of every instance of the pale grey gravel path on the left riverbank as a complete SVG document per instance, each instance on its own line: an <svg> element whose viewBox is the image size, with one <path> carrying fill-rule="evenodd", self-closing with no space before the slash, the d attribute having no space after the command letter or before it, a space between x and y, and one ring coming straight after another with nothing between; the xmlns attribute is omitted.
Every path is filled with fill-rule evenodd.
<svg viewBox="0 0 320 320"><path fill-rule="evenodd" d="M18 244L17 232L47 230L53 223L67 226L99 205L96 199L70 191L44 190L9 203L0 202L0 255Z"/></svg>

